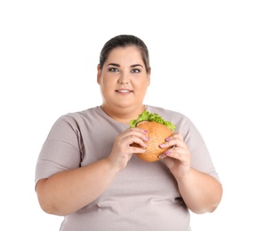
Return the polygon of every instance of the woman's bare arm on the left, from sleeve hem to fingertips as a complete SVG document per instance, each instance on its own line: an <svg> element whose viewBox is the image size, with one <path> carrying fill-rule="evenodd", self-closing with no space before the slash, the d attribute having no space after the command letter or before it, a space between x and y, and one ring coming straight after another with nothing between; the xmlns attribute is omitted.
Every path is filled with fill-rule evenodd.
<svg viewBox="0 0 256 231"><path fill-rule="evenodd" d="M140 128L120 133L110 155L88 166L61 171L36 184L36 194L43 211L67 215L97 199L111 184L116 174L126 167L133 153L143 153L147 131ZM132 147L136 142L141 147Z"/></svg>

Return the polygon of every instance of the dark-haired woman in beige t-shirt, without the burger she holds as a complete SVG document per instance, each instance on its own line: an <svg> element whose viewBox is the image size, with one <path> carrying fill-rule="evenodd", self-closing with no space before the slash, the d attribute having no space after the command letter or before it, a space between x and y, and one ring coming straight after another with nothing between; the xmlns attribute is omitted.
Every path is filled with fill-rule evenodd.
<svg viewBox="0 0 256 231"><path fill-rule="evenodd" d="M143 41L110 39L100 52L97 82L101 106L60 116L44 142L36 164L42 209L64 216L63 231L188 231L189 211L214 211L222 187L188 117L143 104L150 84ZM162 145L170 149L154 163L134 155L144 152L147 131L129 127L145 109L176 125Z"/></svg>

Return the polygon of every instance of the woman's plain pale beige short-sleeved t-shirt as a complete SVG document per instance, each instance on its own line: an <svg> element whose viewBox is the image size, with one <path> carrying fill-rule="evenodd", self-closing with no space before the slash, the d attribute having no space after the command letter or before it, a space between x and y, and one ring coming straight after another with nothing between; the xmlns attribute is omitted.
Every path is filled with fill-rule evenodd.
<svg viewBox="0 0 256 231"><path fill-rule="evenodd" d="M193 168L219 179L204 139L188 117L164 108L147 106L147 110L176 125L175 132L190 149ZM116 136L128 127L100 107L60 116L38 156L36 182L108 156ZM164 162L147 163L133 155L98 199L64 217L60 231L188 231L189 219Z"/></svg>

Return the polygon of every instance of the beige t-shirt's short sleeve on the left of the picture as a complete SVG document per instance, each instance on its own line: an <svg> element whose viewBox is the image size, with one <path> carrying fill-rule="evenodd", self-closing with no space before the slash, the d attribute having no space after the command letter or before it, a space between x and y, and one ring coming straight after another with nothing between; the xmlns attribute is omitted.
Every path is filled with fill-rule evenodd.
<svg viewBox="0 0 256 231"><path fill-rule="evenodd" d="M37 159L35 183L57 172L80 166L79 135L76 123L68 116L61 116L53 124Z"/></svg>

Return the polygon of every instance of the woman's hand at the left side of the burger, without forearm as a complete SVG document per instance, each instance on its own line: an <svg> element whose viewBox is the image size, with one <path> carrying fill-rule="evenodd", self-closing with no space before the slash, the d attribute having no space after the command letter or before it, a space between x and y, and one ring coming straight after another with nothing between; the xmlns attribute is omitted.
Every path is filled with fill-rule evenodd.
<svg viewBox="0 0 256 231"><path fill-rule="evenodd" d="M132 158L132 154L145 152L148 141L147 132L140 128L129 128L120 133L115 139L108 161L118 170L124 169ZM132 143L140 147L132 147Z"/></svg>

